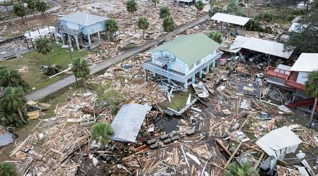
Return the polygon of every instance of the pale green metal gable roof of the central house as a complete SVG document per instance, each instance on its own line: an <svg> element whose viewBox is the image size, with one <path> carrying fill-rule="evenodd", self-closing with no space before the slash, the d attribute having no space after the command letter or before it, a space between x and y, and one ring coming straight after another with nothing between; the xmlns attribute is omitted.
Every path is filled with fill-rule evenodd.
<svg viewBox="0 0 318 176"><path fill-rule="evenodd" d="M211 52L216 51L220 44L208 38L206 34L187 34L170 42L151 49L151 51L169 51L184 63L192 65Z"/></svg>

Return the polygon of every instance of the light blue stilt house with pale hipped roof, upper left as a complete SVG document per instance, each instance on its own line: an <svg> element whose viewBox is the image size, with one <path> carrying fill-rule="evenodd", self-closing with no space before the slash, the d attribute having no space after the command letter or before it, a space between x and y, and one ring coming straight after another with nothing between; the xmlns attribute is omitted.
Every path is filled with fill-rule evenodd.
<svg viewBox="0 0 318 176"><path fill-rule="evenodd" d="M70 46L75 44L77 49L86 44L90 46L92 42L98 42L99 44L101 42L100 32L106 30L107 19L83 12L65 15L59 18L59 23L56 26L57 36L63 44L67 43L65 41L68 40ZM92 37L95 37L96 34L98 41L92 41Z"/></svg>

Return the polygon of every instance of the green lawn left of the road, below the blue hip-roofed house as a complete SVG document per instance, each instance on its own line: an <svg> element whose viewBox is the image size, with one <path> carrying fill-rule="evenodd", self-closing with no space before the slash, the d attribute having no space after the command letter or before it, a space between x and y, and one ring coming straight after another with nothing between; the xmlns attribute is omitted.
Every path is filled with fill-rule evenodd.
<svg viewBox="0 0 318 176"><path fill-rule="evenodd" d="M72 52L73 59L86 56L88 51L86 50L76 50ZM49 79L48 76L42 73L41 65L47 65L47 57L43 54L38 53L35 51L30 51L26 54L22 55L22 58L13 58L11 60L1 61L1 65L5 65L11 69L18 69L22 66L28 66L27 73L21 73L23 80L27 82L31 90L29 92L33 92L37 89L46 87L48 84L52 84L57 80L60 80L62 76L54 77L53 79ZM57 44L52 44L52 52L49 54L49 61L51 65L59 64L62 65L63 70L69 68L68 64L71 63L71 57L69 54L69 49L62 49L61 46ZM32 90L32 88L35 89Z"/></svg>

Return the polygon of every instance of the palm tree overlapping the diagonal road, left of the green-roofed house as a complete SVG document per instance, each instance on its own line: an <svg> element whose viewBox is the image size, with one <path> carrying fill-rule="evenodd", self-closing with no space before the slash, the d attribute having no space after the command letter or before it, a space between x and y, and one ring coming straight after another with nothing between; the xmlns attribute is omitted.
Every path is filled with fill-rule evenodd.
<svg viewBox="0 0 318 176"><path fill-rule="evenodd" d="M90 75L90 67L84 58L76 58L73 61L72 72L76 78L83 78L84 86L86 87L86 78Z"/></svg>

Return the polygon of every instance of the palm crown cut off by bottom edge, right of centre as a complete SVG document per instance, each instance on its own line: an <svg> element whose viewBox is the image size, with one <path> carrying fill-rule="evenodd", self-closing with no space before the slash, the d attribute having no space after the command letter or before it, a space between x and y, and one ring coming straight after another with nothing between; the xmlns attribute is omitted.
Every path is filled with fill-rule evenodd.
<svg viewBox="0 0 318 176"><path fill-rule="evenodd" d="M251 164L248 162L242 163L242 165L238 165L236 163L232 163L228 169L228 172L225 172L225 176L257 176L257 170L254 170L251 167Z"/></svg>

